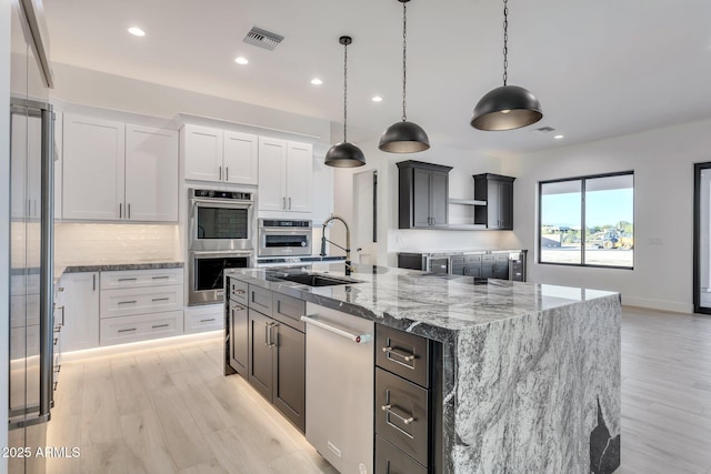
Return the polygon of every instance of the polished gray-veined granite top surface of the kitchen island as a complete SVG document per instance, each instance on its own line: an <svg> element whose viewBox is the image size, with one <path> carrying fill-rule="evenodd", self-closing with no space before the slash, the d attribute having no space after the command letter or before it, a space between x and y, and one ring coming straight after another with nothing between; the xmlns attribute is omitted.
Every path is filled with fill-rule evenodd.
<svg viewBox="0 0 711 474"><path fill-rule="evenodd" d="M425 272L356 265L350 276L359 283L307 286L279 280L291 269L234 269L226 275L322 306L373 320L438 341L481 324L577 304L618 293L537 283L434 275ZM323 273L323 272L318 272ZM343 265L329 265L329 274L343 276Z"/></svg>

